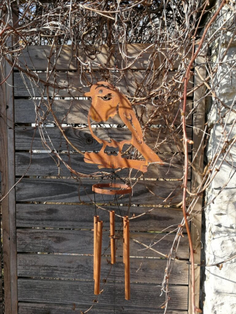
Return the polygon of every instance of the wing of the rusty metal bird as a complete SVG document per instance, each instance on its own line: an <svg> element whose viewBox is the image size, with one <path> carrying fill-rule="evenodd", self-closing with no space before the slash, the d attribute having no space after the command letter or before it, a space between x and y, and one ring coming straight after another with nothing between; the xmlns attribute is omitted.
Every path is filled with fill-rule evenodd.
<svg viewBox="0 0 236 314"><path fill-rule="evenodd" d="M127 128L131 130L136 140L138 140L138 142L142 142L142 128L135 112L133 112L133 109L127 107L121 108L121 110L119 110L119 116L124 124L126 124Z"/></svg>

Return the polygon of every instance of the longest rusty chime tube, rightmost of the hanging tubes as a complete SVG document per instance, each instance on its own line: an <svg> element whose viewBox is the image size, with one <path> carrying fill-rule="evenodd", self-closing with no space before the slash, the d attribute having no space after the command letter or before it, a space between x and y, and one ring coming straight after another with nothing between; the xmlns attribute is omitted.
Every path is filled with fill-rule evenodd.
<svg viewBox="0 0 236 314"><path fill-rule="evenodd" d="M129 220L124 217L124 285L125 299L131 299L131 278L130 278L130 258L129 258Z"/></svg>

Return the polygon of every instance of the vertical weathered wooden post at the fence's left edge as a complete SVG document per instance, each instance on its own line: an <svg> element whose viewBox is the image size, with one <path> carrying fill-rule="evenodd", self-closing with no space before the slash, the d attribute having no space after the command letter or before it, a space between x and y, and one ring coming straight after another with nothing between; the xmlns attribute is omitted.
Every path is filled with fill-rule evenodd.
<svg viewBox="0 0 236 314"><path fill-rule="evenodd" d="M11 38L9 38L9 45ZM13 74L6 61L1 61L3 72L0 82L8 77L0 87L0 160L1 160L1 193L6 195L15 184L15 133L14 133L14 100ZM3 230L3 267L6 314L17 314L17 265L16 265L16 228L15 228L15 188L1 202ZM1 289L0 289L1 290Z"/></svg>

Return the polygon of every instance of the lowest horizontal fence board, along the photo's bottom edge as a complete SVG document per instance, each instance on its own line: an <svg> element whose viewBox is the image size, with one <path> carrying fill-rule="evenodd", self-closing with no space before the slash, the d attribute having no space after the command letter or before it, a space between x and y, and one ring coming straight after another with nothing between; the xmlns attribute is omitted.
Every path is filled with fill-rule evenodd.
<svg viewBox="0 0 236 314"><path fill-rule="evenodd" d="M124 306L122 306L121 308L116 310L113 306L107 306L107 308L103 308L102 306L102 304L96 304L89 312L91 314L163 314L163 309L161 308L154 308L153 310L151 308L141 310L139 308L135 308L134 310L132 310L128 307L124 308ZM19 302L18 307L19 314L81 314L81 311L83 312L88 310L88 306L56 306L51 304L33 304L24 302ZM186 311L170 310L166 311L166 314L188 313Z"/></svg>

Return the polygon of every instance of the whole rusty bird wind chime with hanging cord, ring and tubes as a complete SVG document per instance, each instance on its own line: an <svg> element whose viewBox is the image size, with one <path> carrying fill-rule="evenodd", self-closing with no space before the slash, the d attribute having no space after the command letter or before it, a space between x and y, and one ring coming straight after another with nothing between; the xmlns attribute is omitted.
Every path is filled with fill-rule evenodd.
<svg viewBox="0 0 236 314"><path fill-rule="evenodd" d="M114 73L117 72L117 50L119 46L118 40L118 14L115 18L115 61L114 61ZM84 154L85 163L93 163L98 165L98 168L134 168L142 172L147 172L147 166L149 163L163 164L161 158L159 158L152 149L142 139L142 128L139 121L132 109L132 105L128 98L121 94L121 92L114 85L108 82L97 82L91 86L88 93L84 96L91 97L91 107L88 114L88 126L91 132L91 136L94 137L98 143L103 144L101 151L98 153ZM103 140L102 138L94 134L91 128L91 120L96 123L108 121L108 119L114 118L116 115L123 121L127 128L131 131L131 139L116 141L110 138L110 140ZM122 156L122 149L125 144L129 144L137 149L142 154L144 160L135 160L131 158L124 158ZM115 147L118 149L117 155L108 155L105 153L106 147ZM92 186L94 195L118 195L129 194L131 196L132 188L125 182L117 184L111 182L109 184L99 183ZM125 299L131 298L130 289L130 253L129 253L129 218L123 217L123 262L124 262L124 277L125 277ZM99 220L99 216L94 216L94 294L100 293L100 278L101 278L101 253L102 253L102 239L103 239L103 221ZM110 211L110 250L111 250L111 264L116 262L116 236L115 236L115 211Z"/></svg>

